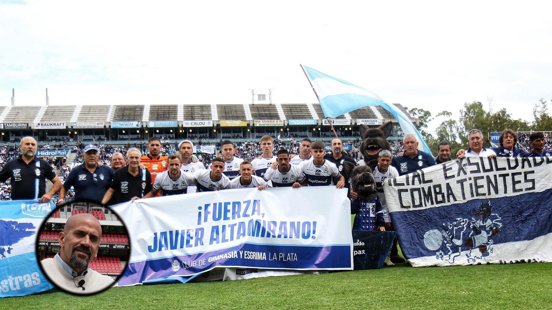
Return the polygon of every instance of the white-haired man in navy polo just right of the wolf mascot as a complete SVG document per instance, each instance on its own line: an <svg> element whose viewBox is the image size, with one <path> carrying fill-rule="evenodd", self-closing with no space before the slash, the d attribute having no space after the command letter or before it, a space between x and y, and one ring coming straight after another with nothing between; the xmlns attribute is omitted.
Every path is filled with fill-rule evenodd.
<svg viewBox="0 0 552 310"><path fill-rule="evenodd" d="M415 172L418 169L431 167L435 164L435 159L418 149L418 140L416 135L408 133L403 139L405 153L403 156L393 158L391 165L399 171L400 175Z"/></svg>

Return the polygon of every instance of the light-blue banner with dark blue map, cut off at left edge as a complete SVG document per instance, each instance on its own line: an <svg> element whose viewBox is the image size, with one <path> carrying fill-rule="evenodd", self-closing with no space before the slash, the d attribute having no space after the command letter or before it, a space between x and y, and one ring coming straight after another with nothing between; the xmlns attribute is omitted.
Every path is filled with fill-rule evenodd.
<svg viewBox="0 0 552 310"><path fill-rule="evenodd" d="M36 238L53 202L0 202L0 297L23 296L54 288L36 261Z"/></svg>

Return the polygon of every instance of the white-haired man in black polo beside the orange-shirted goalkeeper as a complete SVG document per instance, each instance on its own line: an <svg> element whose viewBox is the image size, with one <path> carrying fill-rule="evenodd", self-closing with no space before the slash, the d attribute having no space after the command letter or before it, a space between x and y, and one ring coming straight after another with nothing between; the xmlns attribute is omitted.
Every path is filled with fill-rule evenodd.
<svg viewBox="0 0 552 310"><path fill-rule="evenodd" d="M117 203L132 200L134 197L141 198L152 190L151 174L147 169L140 169L141 152L137 148L130 148L126 152L129 165L120 168L115 172L113 182L102 199L105 205L114 193L117 196Z"/></svg>

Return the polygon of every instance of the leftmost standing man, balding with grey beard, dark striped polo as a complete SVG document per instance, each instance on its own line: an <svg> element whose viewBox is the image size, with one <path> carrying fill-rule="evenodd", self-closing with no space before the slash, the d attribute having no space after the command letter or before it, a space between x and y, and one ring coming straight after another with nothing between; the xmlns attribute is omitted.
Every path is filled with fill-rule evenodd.
<svg viewBox="0 0 552 310"><path fill-rule="evenodd" d="M19 148L22 154L3 167L0 182L11 179L12 200L40 199L40 202L49 202L60 191L60 179L50 164L35 156L36 140L33 137L24 137ZM54 183L47 193L46 178Z"/></svg>

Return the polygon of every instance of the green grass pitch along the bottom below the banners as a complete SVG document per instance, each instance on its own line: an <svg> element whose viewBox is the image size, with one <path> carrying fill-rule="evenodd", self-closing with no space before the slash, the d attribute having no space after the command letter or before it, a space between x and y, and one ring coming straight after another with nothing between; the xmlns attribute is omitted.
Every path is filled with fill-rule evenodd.
<svg viewBox="0 0 552 310"><path fill-rule="evenodd" d="M0 309L552 309L552 263L413 268L115 287L89 297L50 290Z"/></svg>

